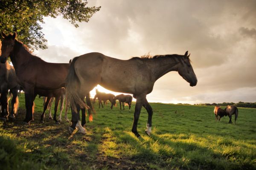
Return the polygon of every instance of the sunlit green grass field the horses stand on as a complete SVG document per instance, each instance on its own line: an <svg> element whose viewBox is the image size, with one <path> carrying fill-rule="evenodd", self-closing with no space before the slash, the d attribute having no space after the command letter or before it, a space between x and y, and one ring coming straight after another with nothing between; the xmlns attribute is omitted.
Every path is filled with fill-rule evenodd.
<svg viewBox="0 0 256 170"><path fill-rule="evenodd" d="M144 133L148 114L143 108L139 140L131 132L134 103L123 111L119 104L111 110L109 103L98 109L96 102L87 134L71 136L68 122L56 125L46 114L40 123L42 99L35 104L29 127L21 126L23 94L16 120L0 122L1 170L256 169L256 109L239 108L236 125L230 125L228 117L215 122L213 106L151 103L152 134Z"/></svg>

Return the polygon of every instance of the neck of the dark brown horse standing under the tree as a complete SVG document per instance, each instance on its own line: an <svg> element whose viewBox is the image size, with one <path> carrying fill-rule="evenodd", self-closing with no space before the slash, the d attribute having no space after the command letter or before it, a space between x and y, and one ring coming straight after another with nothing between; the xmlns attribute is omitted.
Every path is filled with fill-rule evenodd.
<svg viewBox="0 0 256 170"><path fill-rule="evenodd" d="M10 54L10 58L12 61L12 64L15 69L20 68L21 65L26 64L29 62L29 60L33 57L32 54L30 54L23 45L15 40L15 45L13 52Z"/></svg>

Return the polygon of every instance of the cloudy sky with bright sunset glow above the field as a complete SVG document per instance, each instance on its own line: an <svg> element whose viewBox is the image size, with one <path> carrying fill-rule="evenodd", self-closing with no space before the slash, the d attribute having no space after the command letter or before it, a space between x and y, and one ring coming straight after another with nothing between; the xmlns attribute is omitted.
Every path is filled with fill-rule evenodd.
<svg viewBox="0 0 256 170"><path fill-rule="evenodd" d="M102 8L79 28L61 17L45 18L48 49L34 54L69 62L89 52L130 59L189 51L198 84L190 87L169 72L148 101L256 102L255 0L89 0L88 6Z"/></svg>

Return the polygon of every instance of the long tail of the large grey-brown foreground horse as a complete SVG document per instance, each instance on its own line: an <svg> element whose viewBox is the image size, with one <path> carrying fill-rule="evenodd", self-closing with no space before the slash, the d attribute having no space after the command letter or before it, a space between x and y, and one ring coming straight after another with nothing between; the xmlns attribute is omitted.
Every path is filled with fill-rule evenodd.
<svg viewBox="0 0 256 170"><path fill-rule="evenodd" d="M70 106L73 108L73 111L77 112L76 104L80 107L88 108L89 107L83 102L83 100L78 95L78 89L80 88L80 81L76 75L75 71L75 62L78 57L73 58L70 63L70 69L66 78L66 90L67 90L67 99L70 102Z"/></svg>

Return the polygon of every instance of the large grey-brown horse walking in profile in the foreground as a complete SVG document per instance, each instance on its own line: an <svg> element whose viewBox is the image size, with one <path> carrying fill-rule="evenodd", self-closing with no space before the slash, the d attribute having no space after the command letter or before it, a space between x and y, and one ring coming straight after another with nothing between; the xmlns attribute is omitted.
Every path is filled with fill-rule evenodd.
<svg viewBox="0 0 256 170"><path fill-rule="evenodd" d="M189 54L190 55L190 54ZM77 113L84 105L84 96L96 85L111 91L133 94L137 99L132 132L139 137L137 124L142 106L148 112L147 129L150 135L152 126L152 108L146 95L153 90L154 82L169 71L177 71L190 86L197 84L197 78L190 63L188 51L185 55L157 55L154 57L133 57L121 60L101 53L88 53L75 57L67 76L67 96L72 106L72 125L70 133L76 127Z"/></svg>

